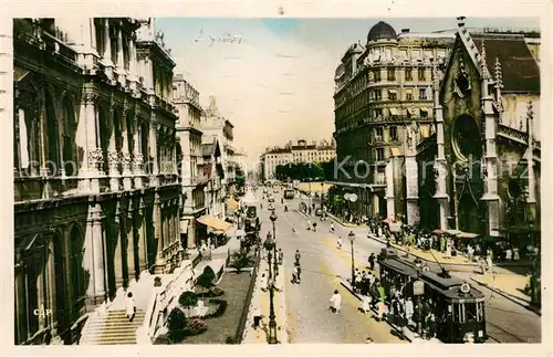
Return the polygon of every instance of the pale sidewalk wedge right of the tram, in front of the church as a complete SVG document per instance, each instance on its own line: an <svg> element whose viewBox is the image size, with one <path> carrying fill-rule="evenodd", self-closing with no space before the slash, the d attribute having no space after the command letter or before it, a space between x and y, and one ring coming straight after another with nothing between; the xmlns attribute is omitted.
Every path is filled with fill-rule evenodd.
<svg viewBox="0 0 553 357"><path fill-rule="evenodd" d="M526 276L519 274L493 273L486 275L472 275L470 279L473 282L488 287L492 292L512 301L513 303L533 311L540 316L542 315L541 307L533 305L531 297L523 293L524 286L526 286Z"/></svg>

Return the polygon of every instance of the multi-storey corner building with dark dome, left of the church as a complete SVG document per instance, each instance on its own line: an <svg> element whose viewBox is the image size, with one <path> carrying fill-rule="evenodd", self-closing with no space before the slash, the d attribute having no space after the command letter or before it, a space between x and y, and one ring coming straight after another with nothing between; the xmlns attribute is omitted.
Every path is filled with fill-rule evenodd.
<svg viewBox="0 0 553 357"><path fill-rule="evenodd" d="M335 73L335 183L355 192L355 211L367 217L405 216L406 126L432 129L431 63L445 60L453 36L397 34L375 24L366 44L346 51ZM396 172L396 175L394 175Z"/></svg>

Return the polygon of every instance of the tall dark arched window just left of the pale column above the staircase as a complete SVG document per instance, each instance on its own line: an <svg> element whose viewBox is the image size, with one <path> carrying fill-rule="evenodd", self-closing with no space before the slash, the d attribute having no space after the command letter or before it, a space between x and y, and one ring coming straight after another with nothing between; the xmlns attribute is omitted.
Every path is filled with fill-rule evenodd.
<svg viewBox="0 0 553 357"><path fill-rule="evenodd" d="M80 316L84 306L85 281L83 270L83 235L77 227L73 227L70 235L71 290L73 292L73 318ZM101 277L102 279L102 277Z"/></svg>

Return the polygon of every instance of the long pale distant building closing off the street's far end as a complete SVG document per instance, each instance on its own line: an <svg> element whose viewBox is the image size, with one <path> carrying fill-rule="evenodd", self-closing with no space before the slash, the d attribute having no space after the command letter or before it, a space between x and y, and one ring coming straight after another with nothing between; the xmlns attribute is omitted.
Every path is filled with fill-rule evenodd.
<svg viewBox="0 0 553 357"><path fill-rule="evenodd" d="M298 140L295 145L288 143L284 147L267 149L261 155L263 178L274 179L276 166L285 164L317 164L334 159L336 154L333 143L321 141L307 144L306 140Z"/></svg>

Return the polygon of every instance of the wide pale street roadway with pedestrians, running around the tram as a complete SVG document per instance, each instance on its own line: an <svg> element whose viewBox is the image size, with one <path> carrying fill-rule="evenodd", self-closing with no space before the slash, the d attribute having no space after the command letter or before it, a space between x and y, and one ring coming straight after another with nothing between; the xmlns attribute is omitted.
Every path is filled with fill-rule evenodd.
<svg viewBox="0 0 553 357"><path fill-rule="evenodd" d="M392 327L386 323L375 322L369 316L357 311L359 302L341 284L341 277L351 276L351 243L347 234L356 233L354 242L355 266L364 269L368 255L378 253L383 244L367 238L365 228L346 228L334 223L335 233L330 232L332 219L317 222L317 232L306 230L307 218L298 211L300 199L284 200L289 212L284 212L280 195L274 195L276 243L286 256L286 306L288 325L291 343L364 343L372 337L375 343L406 343L392 334ZM305 200L307 203L307 200ZM316 202L316 201L315 201ZM261 238L271 228L270 211L267 201L260 212L262 221ZM296 234L292 232L295 228ZM343 248L336 248L337 237L342 237ZM292 284L291 274L295 250L301 252L302 282ZM453 273L469 280L470 273ZM541 317L514 302L492 293L483 286L476 286L487 297L486 319L490 336L489 343L540 343ZM328 311L328 300L334 288L343 297L343 311L333 315ZM314 328L316 326L316 328Z"/></svg>

